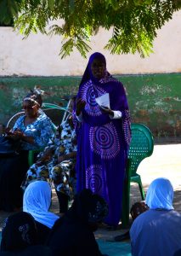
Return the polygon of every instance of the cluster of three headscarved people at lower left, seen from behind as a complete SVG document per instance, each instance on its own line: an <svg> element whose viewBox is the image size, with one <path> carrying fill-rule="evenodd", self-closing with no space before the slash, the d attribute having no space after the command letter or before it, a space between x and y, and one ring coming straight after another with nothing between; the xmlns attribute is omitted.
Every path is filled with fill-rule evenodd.
<svg viewBox="0 0 181 256"><path fill-rule="evenodd" d="M108 213L101 196L83 189L63 217L48 212L50 204L47 182L25 189L23 212L6 219L0 255L103 255L93 235Z"/></svg>

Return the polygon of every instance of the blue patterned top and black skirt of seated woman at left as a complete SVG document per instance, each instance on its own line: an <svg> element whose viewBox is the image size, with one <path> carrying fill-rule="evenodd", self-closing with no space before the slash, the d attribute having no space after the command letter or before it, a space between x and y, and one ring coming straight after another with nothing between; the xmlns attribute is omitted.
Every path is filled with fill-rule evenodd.
<svg viewBox="0 0 181 256"><path fill-rule="evenodd" d="M28 170L28 151L44 148L54 134L54 124L44 114L40 114L32 124L24 125L25 115L20 117L13 130L20 129L26 136L34 137L34 144L22 142L20 154L11 156L0 155L0 210L14 211L22 206L22 190L20 185Z"/></svg>

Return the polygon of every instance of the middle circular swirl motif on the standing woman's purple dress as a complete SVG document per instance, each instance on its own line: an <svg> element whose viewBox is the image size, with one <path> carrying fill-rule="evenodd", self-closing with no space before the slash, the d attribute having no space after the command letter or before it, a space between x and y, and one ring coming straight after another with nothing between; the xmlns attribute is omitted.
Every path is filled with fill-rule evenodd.
<svg viewBox="0 0 181 256"><path fill-rule="evenodd" d="M119 154L120 143L116 128L112 123L93 126L89 131L90 147L102 159L113 159Z"/></svg>

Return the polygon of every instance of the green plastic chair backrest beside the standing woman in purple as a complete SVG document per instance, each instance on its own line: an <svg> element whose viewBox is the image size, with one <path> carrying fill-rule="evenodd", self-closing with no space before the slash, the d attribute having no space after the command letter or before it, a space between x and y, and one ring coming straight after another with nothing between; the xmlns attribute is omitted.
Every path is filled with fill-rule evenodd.
<svg viewBox="0 0 181 256"><path fill-rule="evenodd" d="M131 169L131 176L134 176L140 162L153 153L154 142L149 128L143 124L132 124L131 131L132 140L128 152L128 159L130 160L129 168Z"/></svg>

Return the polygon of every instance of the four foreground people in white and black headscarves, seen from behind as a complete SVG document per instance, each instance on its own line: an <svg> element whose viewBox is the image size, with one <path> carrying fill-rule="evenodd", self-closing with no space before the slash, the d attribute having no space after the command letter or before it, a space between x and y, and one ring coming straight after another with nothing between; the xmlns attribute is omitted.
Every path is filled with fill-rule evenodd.
<svg viewBox="0 0 181 256"><path fill-rule="evenodd" d="M170 181L156 178L145 201L149 209L134 219L130 230L132 255L181 255L181 215L173 209ZM23 212L5 221L0 255L103 255L93 235L108 213L101 196L83 189L62 217L49 212L50 205L48 182L31 183L25 189Z"/></svg>

